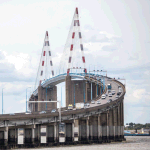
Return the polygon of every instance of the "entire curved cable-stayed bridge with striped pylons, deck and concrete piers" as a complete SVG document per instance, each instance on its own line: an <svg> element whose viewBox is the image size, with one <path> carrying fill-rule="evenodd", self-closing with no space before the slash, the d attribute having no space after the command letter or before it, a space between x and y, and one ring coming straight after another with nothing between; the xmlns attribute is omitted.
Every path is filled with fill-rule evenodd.
<svg viewBox="0 0 150 150"><path fill-rule="evenodd" d="M76 20L75 20L76 19ZM74 25L79 28L78 9L75 10ZM81 32L79 32L79 38ZM72 34L72 39L75 32ZM60 144L104 143L124 139L124 95L125 85L107 75L87 72L82 53L83 72L71 73L71 57L66 73L54 76L48 32L45 35L37 81L30 99L31 112L0 115L0 149L14 147L53 146ZM46 51L46 50L47 51ZM73 46L71 45L70 52ZM83 45L81 44L83 52ZM44 74L44 56L49 54L51 74ZM102 70L101 70L102 72ZM45 76L44 79L42 78ZM65 82L66 107L57 108L57 84ZM111 84L111 90L108 89ZM115 91L112 97L109 93ZM121 91L121 92L120 92ZM120 93L117 96L117 93ZM106 98L102 95L106 94ZM111 99L111 101L110 101ZM38 103L43 101L44 103ZM45 102L47 101L47 104ZM56 103L51 103L56 101ZM77 108L76 103L89 103ZM68 105L73 108L68 110ZM86 105L87 106L87 105ZM60 107L60 106L59 106ZM56 109L52 112L51 110ZM60 118L61 113L61 118Z"/></svg>

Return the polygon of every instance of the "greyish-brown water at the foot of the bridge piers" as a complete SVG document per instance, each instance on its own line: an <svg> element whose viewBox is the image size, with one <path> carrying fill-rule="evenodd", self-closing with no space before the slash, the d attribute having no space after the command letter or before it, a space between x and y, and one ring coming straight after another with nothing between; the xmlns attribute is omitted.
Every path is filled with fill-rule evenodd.
<svg viewBox="0 0 150 150"><path fill-rule="evenodd" d="M150 136L126 136L126 141L104 144L69 145L49 148L31 148L32 150L150 150ZM19 149L18 149L19 150ZM28 149L22 149L28 150Z"/></svg>

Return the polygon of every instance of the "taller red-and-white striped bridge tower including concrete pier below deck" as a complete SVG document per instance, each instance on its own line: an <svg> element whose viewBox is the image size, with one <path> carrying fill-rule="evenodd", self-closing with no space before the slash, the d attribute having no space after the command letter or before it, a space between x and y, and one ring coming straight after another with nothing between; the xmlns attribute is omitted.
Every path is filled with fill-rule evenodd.
<svg viewBox="0 0 150 150"><path fill-rule="evenodd" d="M70 40L70 41L69 41ZM75 105L79 102L87 102L89 99L87 94L88 83L85 80L71 80L70 73L74 70L87 73L85 55L83 51L82 35L80 30L79 11L75 8L72 24L69 31L69 36L65 45L64 53L67 59L68 68L66 76L66 106L69 104ZM63 57L64 59L64 57ZM62 65L63 63L61 63ZM80 66L79 66L80 65ZM75 71L74 71L75 73Z"/></svg>

